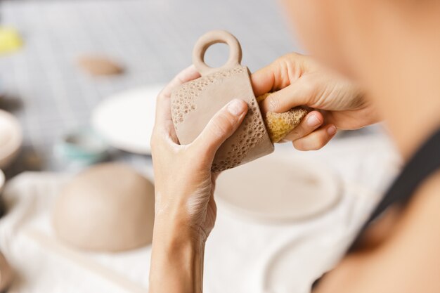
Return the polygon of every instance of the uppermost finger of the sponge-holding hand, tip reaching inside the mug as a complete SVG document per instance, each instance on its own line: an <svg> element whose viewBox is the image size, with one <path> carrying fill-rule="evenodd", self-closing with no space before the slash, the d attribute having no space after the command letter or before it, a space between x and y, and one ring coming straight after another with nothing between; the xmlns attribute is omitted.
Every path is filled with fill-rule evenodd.
<svg viewBox="0 0 440 293"><path fill-rule="evenodd" d="M278 91L289 86L304 72L306 56L290 53L273 61L270 65L251 74L255 96Z"/></svg>

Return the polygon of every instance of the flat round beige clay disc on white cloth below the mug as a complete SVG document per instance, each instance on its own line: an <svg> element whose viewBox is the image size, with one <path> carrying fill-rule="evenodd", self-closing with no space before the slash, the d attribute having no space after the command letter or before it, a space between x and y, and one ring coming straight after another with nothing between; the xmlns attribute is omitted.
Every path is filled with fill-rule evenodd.
<svg viewBox="0 0 440 293"><path fill-rule="evenodd" d="M234 214L263 221L318 216L341 196L339 178L325 166L277 152L224 171L216 183L219 204Z"/></svg>

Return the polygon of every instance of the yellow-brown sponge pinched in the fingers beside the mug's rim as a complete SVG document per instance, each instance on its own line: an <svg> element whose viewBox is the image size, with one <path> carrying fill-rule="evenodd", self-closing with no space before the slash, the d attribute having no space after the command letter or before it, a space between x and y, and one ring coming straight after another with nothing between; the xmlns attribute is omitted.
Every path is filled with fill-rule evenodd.
<svg viewBox="0 0 440 293"><path fill-rule="evenodd" d="M270 95L271 93L265 93L257 97L257 102L260 103ZM299 125L307 113L309 113L309 111L301 107L295 107L283 113L267 112L266 117L264 117L264 123L266 124L271 141L278 143L285 138L290 131Z"/></svg>

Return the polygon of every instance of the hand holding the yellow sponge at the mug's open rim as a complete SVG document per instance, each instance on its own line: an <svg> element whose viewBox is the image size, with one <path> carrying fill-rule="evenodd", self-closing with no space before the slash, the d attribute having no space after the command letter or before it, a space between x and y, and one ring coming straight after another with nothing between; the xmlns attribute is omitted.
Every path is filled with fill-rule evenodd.
<svg viewBox="0 0 440 293"><path fill-rule="evenodd" d="M337 129L358 129L380 120L358 86L307 56L290 53L251 79L255 96L276 91L261 103L263 112L285 112L297 106L315 109L284 139L298 150L318 150Z"/></svg>

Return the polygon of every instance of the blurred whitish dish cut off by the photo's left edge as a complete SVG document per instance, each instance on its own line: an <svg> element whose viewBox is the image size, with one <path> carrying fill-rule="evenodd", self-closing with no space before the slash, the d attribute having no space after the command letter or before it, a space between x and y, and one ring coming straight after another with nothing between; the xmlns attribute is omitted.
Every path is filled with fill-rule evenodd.
<svg viewBox="0 0 440 293"><path fill-rule="evenodd" d="M18 119L0 110L0 168L5 169L18 155L22 145L22 130Z"/></svg>

